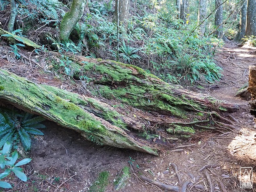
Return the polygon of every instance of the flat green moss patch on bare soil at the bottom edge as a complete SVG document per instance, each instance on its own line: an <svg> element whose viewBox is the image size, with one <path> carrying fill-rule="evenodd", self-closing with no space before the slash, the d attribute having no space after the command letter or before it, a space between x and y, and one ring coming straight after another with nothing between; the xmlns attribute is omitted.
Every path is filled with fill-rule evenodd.
<svg viewBox="0 0 256 192"><path fill-rule="evenodd" d="M104 192L108 185L108 177L109 173L107 171L101 172L96 181L90 187L89 192Z"/></svg>

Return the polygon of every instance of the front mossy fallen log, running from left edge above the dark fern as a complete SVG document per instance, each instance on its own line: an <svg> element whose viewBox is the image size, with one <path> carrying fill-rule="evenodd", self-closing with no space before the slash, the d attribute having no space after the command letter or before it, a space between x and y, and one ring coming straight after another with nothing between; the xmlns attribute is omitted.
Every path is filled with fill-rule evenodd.
<svg viewBox="0 0 256 192"><path fill-rule="evenodd" d="M127 118L123 120L125 117L122 118L110 106L101 105L97 100L82 98L55 87L38 85L3 69L0 69L0 100L74 129L87 140L158 155L157 147L135 140L119 128L126 125ZM113 125L88 112L86 106L90 106L91 112L95 109L95 113L105 113L104 118L112 118ZM127 121L130 123L129 119Z"/></svg>

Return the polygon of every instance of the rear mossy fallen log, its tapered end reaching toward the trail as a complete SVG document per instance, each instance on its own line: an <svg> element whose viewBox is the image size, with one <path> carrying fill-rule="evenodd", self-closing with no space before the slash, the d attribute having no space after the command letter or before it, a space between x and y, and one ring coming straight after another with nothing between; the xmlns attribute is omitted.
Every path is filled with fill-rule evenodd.
<svg viewBox="0 0 256 192"><path fill-rule="evenodd" d="M99 94L147 111L156 111L186 119L194 109L202 111L234 112L236 104L195 93L181 86L168 84L143 69L108 60L68 55L74 61L74 77L81 71L99 85Z"/></svg>

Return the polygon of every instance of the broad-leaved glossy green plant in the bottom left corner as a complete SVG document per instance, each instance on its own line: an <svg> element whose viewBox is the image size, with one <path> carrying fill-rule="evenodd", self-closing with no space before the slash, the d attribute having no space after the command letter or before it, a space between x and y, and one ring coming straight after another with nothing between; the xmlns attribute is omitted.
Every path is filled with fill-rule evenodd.
<svg viewBox="0 0 256 192"><path fill-rule="evenodd" d="M20 180L27 181L27 176L23 173L23 169L20 166L29 163L31 159L26 158L15 163L18 159L18 153L17 151L14 151L12 156L9 155L11 145L11 143L6 142L0 151L0 167L4 170L4 172L0 174L0 179L7 177L11 172L13 172ZM5 181L0 181L0 187L12 188L12 186Z"/></svg>

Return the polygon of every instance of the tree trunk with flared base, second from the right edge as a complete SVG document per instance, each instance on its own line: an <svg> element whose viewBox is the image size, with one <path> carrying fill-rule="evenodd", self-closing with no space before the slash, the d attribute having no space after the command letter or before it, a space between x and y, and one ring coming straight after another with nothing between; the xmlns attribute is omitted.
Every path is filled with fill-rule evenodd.
<svg viewBox="0 0 256 192"><path fill-rule="evenodd" d="M244 38L246 32L246 14L247 14L247 1L244 2L243 6L240 9L240 19L239 19L239 30L234 38L234 41L241 42L241 39Z"/></svg>

